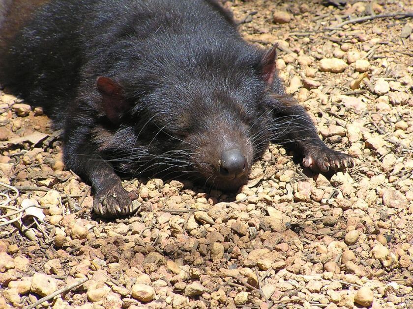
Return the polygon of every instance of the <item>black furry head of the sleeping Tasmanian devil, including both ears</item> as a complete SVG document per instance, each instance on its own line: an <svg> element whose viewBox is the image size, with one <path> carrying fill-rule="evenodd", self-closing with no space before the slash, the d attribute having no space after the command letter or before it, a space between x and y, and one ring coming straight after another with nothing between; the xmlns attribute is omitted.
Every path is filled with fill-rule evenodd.
<svg viewBox="0 0 413 309"><path fill-rule="evenodd" d="M158 61L119 84L99 77L102 107L116 128L116 144L106 147L116 151L112 163L131 174L182 176L236 190L271 137L271 100L283 93L275 50Z"/></svg>

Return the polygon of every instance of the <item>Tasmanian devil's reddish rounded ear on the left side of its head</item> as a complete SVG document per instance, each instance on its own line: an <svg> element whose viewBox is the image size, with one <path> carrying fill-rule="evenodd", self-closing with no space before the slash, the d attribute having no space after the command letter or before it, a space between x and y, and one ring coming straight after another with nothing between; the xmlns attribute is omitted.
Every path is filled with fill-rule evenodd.
<svg viewBox="0 0 413 309"><path fill-rule="evenodd" d="M129 107L122 95L122 87L109 77L100 76L96 80L96 87L102 95L101 106L113 123L118 123L122 113Z"/></svg>

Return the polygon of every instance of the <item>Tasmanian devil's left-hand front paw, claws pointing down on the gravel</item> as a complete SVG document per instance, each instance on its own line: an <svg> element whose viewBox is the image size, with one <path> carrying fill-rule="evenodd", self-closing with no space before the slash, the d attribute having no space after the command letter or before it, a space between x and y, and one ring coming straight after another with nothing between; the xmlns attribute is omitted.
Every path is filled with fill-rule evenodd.
<svg viewBox="0 0 413 309"><path fill-rule="evenodd" d="M96 193L93 211L104 218L118 218L136 211L129 193L120 184Z"/></svg>

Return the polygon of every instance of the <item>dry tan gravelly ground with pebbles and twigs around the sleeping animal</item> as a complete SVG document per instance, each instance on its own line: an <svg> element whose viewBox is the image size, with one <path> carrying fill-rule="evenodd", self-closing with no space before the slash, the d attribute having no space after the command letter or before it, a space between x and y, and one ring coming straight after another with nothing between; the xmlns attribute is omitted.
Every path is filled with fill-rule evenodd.
<svg viewBox="0 0 413 309"><path fill-rule="evenodd" d="M128 180L140 211L104 221L41 109L0 92L0 308L65 287L39 307L413 308L413 23L342 24L413 3L326 2L225 5L248 41L279 43L288 91L357 157L330 179L271 146L238 195Z"/></svg>

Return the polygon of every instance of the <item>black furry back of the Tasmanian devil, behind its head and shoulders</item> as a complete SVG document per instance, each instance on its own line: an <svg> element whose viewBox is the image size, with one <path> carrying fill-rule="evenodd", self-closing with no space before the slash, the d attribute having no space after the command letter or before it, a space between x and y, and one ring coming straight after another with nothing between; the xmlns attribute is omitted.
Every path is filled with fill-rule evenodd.
<svg viewBox="0 0 413 309"><path fill-rule="evenodd" d="M20 13L17 2L25 6ZM57 125L100 75L121 77L124 67L147 55L168 61L238 37L235 27L228 27L231 17L214 0L34 2L4 2L0 26L9 26L0 45L0 84L43 106Z"/></svg>

